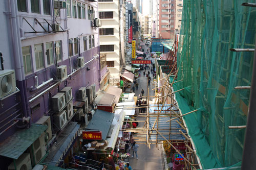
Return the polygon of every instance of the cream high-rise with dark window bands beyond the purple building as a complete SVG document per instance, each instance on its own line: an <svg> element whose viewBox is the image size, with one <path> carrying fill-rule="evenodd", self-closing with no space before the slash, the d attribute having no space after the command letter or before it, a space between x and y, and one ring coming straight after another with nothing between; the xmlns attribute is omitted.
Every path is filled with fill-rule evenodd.
<svg viewBox="0 0 256 170"><path fill-rule="evenodd" d="M106 64L110 71L110 84L120 82L119 74L122 65L124 65L124 13L123 1L99 1L100 54L106 55Z"/></svg>

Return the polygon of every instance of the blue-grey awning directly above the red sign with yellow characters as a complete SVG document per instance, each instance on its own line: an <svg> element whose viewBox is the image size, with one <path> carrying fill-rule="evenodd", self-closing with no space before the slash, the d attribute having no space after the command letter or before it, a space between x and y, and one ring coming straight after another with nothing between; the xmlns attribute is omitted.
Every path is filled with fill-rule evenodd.
<svg viewBox="0 0 256 170"><path fill-rule="evenodd" d="M102 139L106 139L106 135L110 130L114 114L103 110L96 110L90 123L87 125L87 129L98 130L102 132Z"/></svg>

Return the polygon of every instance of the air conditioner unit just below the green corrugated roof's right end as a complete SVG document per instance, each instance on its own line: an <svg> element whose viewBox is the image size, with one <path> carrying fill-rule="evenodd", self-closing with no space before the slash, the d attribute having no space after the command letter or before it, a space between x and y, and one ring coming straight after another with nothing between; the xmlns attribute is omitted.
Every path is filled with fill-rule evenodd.
<svg viewBox="0 0 256 170"><path fill-rule="evenodd" d="M42 133L33 143L35 163L37 164L46 155L45 133Z"/></svg>

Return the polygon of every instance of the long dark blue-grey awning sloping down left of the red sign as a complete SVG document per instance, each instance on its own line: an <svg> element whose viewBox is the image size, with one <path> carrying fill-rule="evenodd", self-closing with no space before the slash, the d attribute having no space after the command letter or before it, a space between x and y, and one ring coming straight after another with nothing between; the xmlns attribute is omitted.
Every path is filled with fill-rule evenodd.
<svg viewBox="0 0 256 170"><path fill-rule="evenodd" d="M49 164L56 165L56 161L64 160L69 153L68 151L72 148L72 145L75 142L74 139L78 136L79 128L80 125L78 125L77 122L70 122L70 124L57 138L57 141L61 142L59 142L59 144L57 144L49 151L49 154L44 162L53 162ZM61 164L61 162L58 163Z"/></svg>

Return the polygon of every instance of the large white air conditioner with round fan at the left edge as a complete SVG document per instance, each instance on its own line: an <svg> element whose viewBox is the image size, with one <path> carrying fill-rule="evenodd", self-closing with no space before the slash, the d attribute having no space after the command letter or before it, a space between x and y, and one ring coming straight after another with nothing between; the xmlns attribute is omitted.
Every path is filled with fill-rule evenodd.
<svg viewBox="0 0 256 170"><path fill-rule="evenodd" d="M0 71L0 99L16 91L15 72L13 69Z"/></svg>

